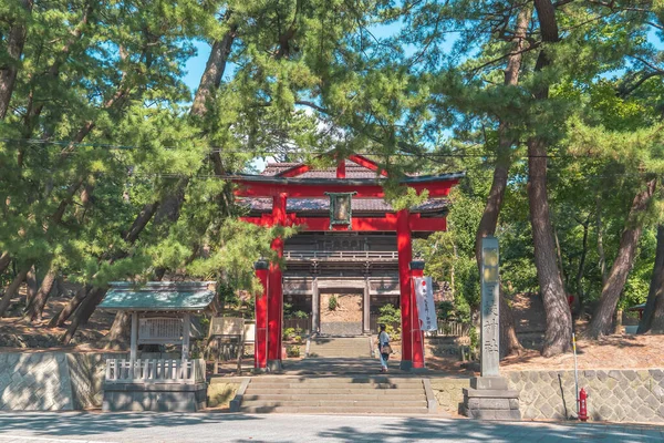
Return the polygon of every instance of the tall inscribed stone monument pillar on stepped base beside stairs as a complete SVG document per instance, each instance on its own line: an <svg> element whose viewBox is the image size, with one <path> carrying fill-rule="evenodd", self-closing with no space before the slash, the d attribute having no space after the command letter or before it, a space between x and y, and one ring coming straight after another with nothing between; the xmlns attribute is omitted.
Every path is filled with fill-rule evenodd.
<svg viewBox="0 0 664 443"><path fill-rule="evenodd" d="M464 389L463 413L471 419L521 420L519 394L500 377L500 277L498 239L481 239L480 377Z"/></svg>

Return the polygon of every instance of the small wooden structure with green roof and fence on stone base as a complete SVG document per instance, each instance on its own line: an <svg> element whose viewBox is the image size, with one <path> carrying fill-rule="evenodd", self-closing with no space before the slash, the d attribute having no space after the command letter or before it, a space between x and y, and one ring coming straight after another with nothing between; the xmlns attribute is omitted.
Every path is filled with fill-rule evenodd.
<svg viewBox="0 0 664 443"><path fill-rule="evenodd" d="M206 405L205 361L191 359L191 315L216 311L209 281L113 282L100 309L132 318L129 358L106 360L102 409L194 412ZM179 359L141 346L178 347ZM165 349L164 349L165 350Z"/></svg>

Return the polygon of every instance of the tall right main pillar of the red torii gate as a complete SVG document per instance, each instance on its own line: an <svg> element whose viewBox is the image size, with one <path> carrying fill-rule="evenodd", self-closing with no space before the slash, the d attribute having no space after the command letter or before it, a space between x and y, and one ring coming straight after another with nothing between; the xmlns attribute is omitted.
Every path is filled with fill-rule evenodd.
<svg viewBox="0 0 664 443"><path fill-rule="evenodd" d="M413 244L411 228L408 227L408 209L396 213L396 250L398 253L398 287L402 311L401 369L409 370L413 367L413 296L409 269L413 259Z"/></svg>

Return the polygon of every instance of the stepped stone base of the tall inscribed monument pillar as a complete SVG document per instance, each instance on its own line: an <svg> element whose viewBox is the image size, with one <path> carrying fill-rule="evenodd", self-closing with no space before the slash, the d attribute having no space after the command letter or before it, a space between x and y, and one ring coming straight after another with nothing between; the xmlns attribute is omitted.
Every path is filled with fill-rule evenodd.
<svg viewBox="0 0 664 443"><path fill-rule="evenodd" d="M477 377L464 389L461 413L479 420L521 420L519 394L507 389L502 377Z"/></svg>

